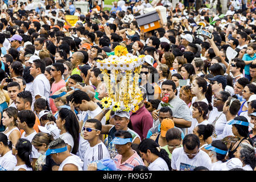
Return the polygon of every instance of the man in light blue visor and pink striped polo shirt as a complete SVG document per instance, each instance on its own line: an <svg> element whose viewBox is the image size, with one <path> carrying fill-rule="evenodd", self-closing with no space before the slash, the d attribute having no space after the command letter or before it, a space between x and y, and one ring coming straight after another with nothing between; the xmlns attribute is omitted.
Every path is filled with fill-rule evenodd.
<svg viewBox="0 0 256 182"><path fill-rule="evenodd" d="M131 142L132 135L129 131L119 130L115 133L115 138L111 143L115 145L118 152L113 159L117 170L133 171L135 166L145 165L137 152L131 148Z"/></svg>

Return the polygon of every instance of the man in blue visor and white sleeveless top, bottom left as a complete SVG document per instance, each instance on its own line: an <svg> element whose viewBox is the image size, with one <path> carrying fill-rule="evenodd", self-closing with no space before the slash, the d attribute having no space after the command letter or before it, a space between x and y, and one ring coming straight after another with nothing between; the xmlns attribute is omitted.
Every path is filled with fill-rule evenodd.
<svg viewBox="0 0 256 182"><path fill-rule="evenodd" d="M63 139L57 138L49 143L46 156L51 155L53 161L59 164L59 171L82 171L82 160L77 155L69 153Z"/></svg>

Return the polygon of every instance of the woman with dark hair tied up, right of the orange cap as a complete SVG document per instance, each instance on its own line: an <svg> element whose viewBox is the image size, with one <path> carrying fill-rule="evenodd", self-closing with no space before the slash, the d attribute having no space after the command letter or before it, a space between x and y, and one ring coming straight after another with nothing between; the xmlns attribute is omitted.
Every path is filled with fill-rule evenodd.
<svg viewBox="0 0 256 182"><path fill-rule="evenodd" d="M193 134L197 135L197 137L199 137L200 140L200 149L207 152L208 151L204 148L205 146L208 145L208 143L211 143L212 140L212 133L213 133L214 127L212 125L198 125L197 127L195 127L195 129L193 130ZM207 140L209 140L210 142L207 143Z"/></svg>

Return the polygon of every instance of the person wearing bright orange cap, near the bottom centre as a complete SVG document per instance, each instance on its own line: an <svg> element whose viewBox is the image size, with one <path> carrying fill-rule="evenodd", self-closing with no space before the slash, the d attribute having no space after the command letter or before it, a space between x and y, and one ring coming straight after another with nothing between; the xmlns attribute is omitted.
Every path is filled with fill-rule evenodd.
<svg viewBox="0 0 256 182"><path fill-rule="evenodd" d="M166 140L166 132L169 129L172 129L174 127L174 121L170 118L163 119L163 121L160 124L160 133L157 135L151 135L151 139L155 140L156 143L159 144L159 146L163 147L166 146L167 140Z"/></svg>

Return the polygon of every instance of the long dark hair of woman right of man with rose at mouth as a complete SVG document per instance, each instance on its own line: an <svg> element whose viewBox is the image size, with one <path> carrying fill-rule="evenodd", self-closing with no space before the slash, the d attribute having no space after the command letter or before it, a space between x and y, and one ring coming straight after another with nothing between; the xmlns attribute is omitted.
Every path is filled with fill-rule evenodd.
<svg viewBox="0 0 256 182"><path fill-rule="evenodd" d="M208 109L212 110L212 86L209 84L207 86L207 81L203 78L203 77L196 77L195 78L196 83L198 85L198 87L202 87L203 88L203 94L205 95L205 98L207 98L208 101Z"/></svg>

